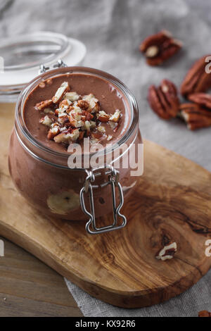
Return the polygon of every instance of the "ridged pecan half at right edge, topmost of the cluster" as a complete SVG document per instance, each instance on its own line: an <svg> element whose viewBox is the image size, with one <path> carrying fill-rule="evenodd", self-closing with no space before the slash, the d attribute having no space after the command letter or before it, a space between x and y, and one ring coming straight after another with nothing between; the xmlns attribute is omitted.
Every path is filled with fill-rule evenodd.
<svg viewBox="0 0 211 331"><path fill-rule="evenodd" d="M206 73L205 66L207 63L205 59L207 56L203 56L196 61L181 83L181 94L187 96L197 92L205 92L211 87L211 73Z"/></svg>

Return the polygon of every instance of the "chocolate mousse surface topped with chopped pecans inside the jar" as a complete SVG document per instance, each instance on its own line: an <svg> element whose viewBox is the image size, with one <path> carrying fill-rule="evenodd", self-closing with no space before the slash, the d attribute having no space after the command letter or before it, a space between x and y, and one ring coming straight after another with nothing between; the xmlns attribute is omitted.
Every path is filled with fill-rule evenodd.
<svg viewBox="0 0 211 331"><path fill-rule="evenodd" d="M24 120L35 139L67 152L72 142L117 142L127 130L126 101L117 87L92 75L66 74L45 80L27 96Z"/></svg>

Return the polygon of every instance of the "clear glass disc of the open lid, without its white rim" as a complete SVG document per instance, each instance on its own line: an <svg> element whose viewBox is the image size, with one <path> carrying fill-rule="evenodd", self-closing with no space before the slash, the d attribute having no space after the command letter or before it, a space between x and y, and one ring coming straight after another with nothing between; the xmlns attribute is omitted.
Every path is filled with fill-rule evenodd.
<svg viewBox="0 0 211 331"><path fill-rule="evenodd" d="M4 70L22 70L56 62L70 51L68 38L52 32L35 32L1 40Z"/></svg>

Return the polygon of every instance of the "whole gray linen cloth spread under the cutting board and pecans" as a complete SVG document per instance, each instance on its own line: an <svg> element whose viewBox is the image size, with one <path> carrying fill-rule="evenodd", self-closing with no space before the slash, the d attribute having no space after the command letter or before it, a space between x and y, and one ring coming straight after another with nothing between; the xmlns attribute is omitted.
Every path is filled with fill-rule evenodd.
<svg viewBox="0 0 211 331"><path fill-rule="evenodd" d="M149 85L169 78L179 86L191 63L210 52L209 2L37 0L33 4L32 1L18 0L11 2L1 13L0 35L52 30L82 40L88 51L84 65L112 73L134 92L143 137L211 170L211 129L190 132L179 120L160 120L146 101ZM198 8L199 16L190 11L188 5ZM139 43L162 28L181 39L184 49L162 67L151 68L139 53ZM193 288L165 304L125 310L91 298L67 281L84 316L196 316L202 309L211 311L210 283L211 271Z"/></svg>

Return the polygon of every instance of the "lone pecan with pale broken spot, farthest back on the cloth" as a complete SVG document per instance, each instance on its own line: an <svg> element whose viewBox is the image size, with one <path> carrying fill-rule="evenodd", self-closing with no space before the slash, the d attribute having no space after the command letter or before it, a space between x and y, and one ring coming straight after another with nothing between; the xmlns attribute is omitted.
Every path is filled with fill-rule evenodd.
<svg viewBox="0 0 211 331"><path fill-rule="evenodd" d="M170 32L162 30L144 39L139 49L146 56L148 65L160 65L181 49L181 42L173 39Z"/></svg>

